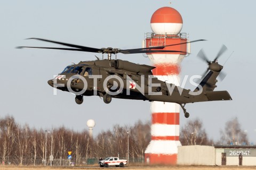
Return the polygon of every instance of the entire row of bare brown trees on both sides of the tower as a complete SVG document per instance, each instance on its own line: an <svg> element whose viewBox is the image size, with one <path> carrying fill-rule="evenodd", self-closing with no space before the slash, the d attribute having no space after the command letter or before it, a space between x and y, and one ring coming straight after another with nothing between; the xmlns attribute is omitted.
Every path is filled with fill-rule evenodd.
<svg viewBox="0 0 256 170"><path fill-rule="evenodd" d="M151 139L150 125L141 121L131 126L115 125L91 138L87 130L77 132L64 126L50 131L31 129L28 124L22 126L12 116L5 116L0 118L0 159L11 165L43 165L46 155L46 165L58 166L65 164L62 161L67 160L68 151L72 151L71 162L85 165L88 160L117 156L118 152L120 157L127 158L129 141L130 163L143 162ZM213 141L197 118L181 127L180 142L182 145L248 145L248 138L235 117L220 130L219 141Z"/></svg>

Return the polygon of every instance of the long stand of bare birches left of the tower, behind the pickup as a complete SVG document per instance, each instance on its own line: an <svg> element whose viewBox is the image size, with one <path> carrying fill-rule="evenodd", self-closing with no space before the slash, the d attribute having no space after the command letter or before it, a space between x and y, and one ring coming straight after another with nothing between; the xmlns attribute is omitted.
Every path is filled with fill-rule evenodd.
<svg viewBox="0 0 256 170"><path fill-rule="evenodd" d="M68 151L72 151L72 162L76 165L91 158L117 156L117 152L126 158L128 135L130 161L143 160L150 142L150 122L115 125L112 130L102 131L91 138L87 130L76 132L62 126L48 132L31 129L27 124L21 126L12 116L5 116L0 118L0 158L5 164L42 165L45 150L46 165L50 165L51 154L54 160L67 159Z"/></svg>

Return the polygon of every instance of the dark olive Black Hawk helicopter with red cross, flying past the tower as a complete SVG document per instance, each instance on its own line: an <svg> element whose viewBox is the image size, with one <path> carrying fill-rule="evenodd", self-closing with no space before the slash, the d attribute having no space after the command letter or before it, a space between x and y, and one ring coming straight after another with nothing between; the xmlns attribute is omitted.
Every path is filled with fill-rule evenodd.
<svg viewBox="0 0 256 170"><path fill-rule="evenodd" d="M95 61L85 61L69 65L59 73L57 77L48 81L49 85L54 88L62 91L73 92L76 95L75 101L77 104L83 103L83 96L93 95L103 97L103 101L106 104L111 102L112 97L144 101L164 101L179 104L183 109L185 117L189 117L189 113L186 112L185 109L185 105L187 103L231 100L227 91L213 91L214 88L217 87L215 83L217 82L217 77L223 68L223 66L218 63L217 59L227 50L226 46L222 46L220 52L213 61L209 61L202 50L198 53L198 56L202 60L206 61L209 67L205 72L205 77L199 83L198 87L194 91L190 91L155 78L151 72L151 70L155 68L154 66L111 59L111 54L117 53L135 54L180 52L175 50L164 50L167 46L174 46L178 44L137 49L119 49L110 47L91 48L41 38L29 39L47 41L72 48L29 46L21 46L18 48L46 48L102 53L102 55L108 54L108 58L105 60L103 60L103 58L100 60L96 56L97 60ZM202 40L195 40L190 43L196 41Z"/></svg>

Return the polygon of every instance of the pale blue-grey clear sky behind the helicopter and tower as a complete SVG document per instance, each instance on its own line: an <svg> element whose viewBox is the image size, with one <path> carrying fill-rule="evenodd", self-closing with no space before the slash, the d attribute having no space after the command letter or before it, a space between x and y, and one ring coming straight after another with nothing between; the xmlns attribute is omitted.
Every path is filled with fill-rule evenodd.
<svg viewBox="0 0 256 170"><path fill-rule="evenodd" d="M114 124L133 124L150 120L148 101L113 99L105 104L97 97L84 97L77 105L68 92L47 84L65 66L95 60L85 52L46 49L15 49L16 46L58 45L25 40L37 37L89 47L140 48L145 32L151 32L151 15L160 7L171 6L183 18L181 32L190 40L208 41L191 45L192 54L182 62L181 77L202 74L207 65L196 57L201 48L213 59L222 44L228 51L220 58L227 77L216 90L228 90L233 101L213 101L186 105L189 119L201 118L211 138L219 139L225 122L238 117L249 140L256 143L255 96L255 1L1 1L0 2L0 114L13 115L20 124L51 129L65 125L81 131L86 121L95 120L94 133L111 129ZM141 54L122 55L121 60L150 64ZM182 78L181 78L182 80ZM189 84L186 88L193 89ZM126 109L123 109L126 108ZM180 114L180 125L187 122Z"/></svg>

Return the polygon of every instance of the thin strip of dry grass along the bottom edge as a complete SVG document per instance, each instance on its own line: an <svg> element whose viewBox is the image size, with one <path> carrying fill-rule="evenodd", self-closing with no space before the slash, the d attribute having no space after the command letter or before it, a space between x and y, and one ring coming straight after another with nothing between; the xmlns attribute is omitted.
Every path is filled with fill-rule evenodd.
<svg viewBox="0 0 256 170"><path fill-rule="evenodd" d="M167 170L167 169L178 169L178 170L212 170L212 169L222 169L222 170L229 170L229 169L256 169L254 166L126 166L124 168L119 167L109 167L109 168L100 168L98 166L92 167L34 167L34 166L0 166L0 170L60 170L60 169L134 169L134 170L142 170L142 169L156 169L156 170Z"/></svg>

